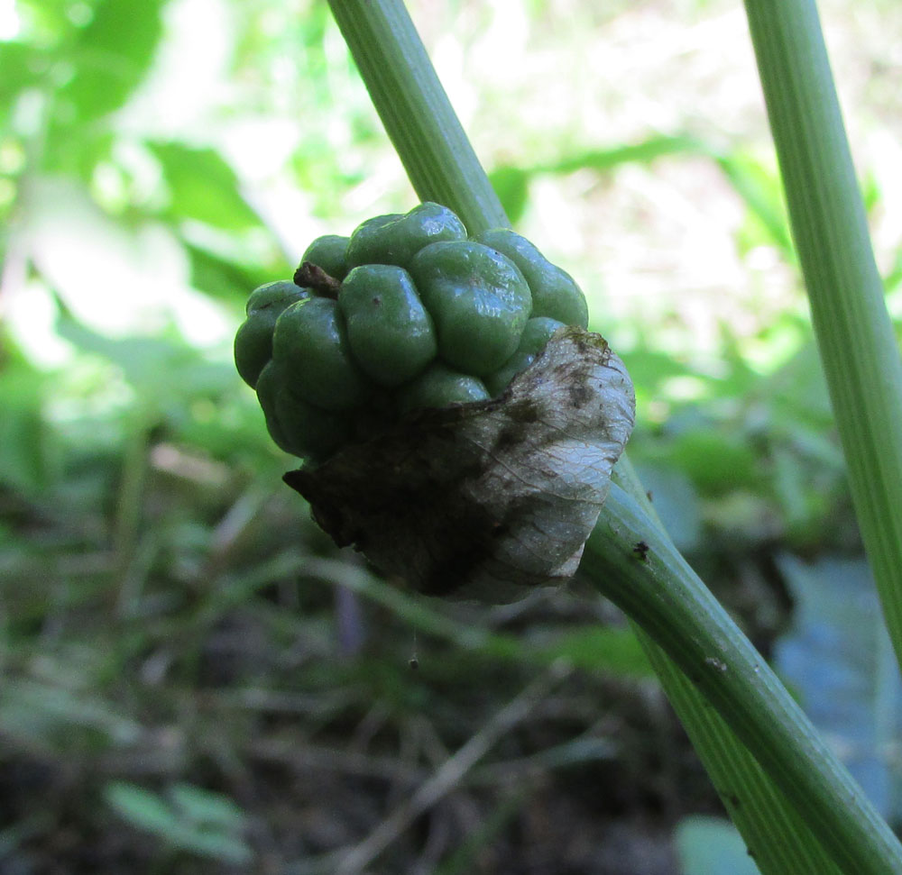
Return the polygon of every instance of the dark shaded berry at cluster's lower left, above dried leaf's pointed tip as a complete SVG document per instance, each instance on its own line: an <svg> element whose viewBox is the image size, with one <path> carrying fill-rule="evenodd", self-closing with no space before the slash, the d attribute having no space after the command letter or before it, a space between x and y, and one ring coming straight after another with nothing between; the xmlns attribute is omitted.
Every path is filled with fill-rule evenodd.
<svg viewBox="0 0 902 875"><path fill-rule="evenodd" d="M257 380L257 397L266 427L281 450L301 457L324 458L347 442L351 423L296 396L284 369L271 361Z"/></svg>

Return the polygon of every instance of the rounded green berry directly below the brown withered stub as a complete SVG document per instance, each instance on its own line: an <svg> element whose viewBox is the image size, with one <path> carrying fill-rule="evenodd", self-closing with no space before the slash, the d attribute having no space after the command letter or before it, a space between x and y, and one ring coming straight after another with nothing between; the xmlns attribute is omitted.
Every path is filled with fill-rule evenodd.
<svg viewBox="0 0 902 875"><path fill-rule="evenodd" d="M294 395L325 410L346 410L366 397L366 380L348 349L336 301L311 297L288 307L272 334L272 360Z"/></svg>

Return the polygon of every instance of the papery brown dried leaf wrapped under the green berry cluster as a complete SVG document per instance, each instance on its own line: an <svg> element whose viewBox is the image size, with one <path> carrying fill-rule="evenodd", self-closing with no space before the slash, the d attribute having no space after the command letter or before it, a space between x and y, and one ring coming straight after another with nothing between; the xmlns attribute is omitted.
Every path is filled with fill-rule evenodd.
<svg viewBox="0 0 902 875"><path fill-rule="evenodd" d="M510 601L573 576L634 419L623 362L570 327L500 398L422 411L285 482L419 592Z"/></svg>

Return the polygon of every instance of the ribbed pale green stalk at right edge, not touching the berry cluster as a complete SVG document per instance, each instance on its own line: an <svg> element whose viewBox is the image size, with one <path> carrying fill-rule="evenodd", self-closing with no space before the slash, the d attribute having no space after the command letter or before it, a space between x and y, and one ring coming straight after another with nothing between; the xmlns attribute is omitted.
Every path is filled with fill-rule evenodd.
<svg viewBox="0 0 902 875"><path fill-rule="evenodd" d="M814 0L746 0L861 536L902 661L902 358Z"/></svg>

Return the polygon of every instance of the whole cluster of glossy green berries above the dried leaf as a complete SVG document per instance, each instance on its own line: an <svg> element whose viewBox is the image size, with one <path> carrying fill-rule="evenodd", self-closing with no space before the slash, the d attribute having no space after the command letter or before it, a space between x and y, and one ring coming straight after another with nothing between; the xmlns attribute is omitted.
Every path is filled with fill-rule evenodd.
<svg viewBox="0 0 902 875"><path fill-rule="evenodd" d="M282 450L322 459L412 410L498 396L563 325L573 278L499 228L467 237L446 207L319 237L294 281L254 289L235 364Z"/></svg>

